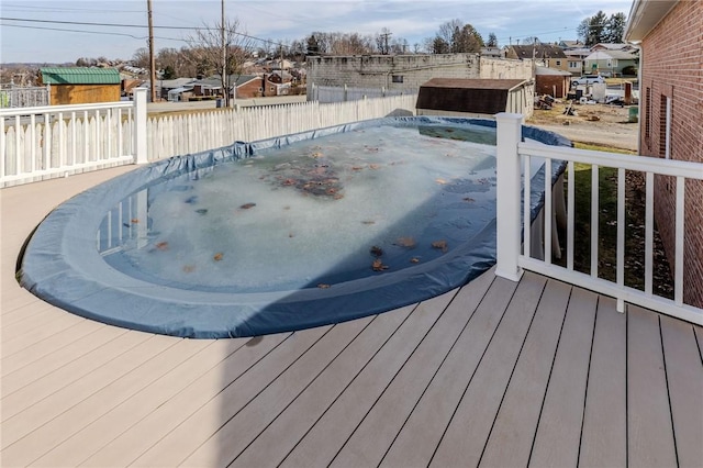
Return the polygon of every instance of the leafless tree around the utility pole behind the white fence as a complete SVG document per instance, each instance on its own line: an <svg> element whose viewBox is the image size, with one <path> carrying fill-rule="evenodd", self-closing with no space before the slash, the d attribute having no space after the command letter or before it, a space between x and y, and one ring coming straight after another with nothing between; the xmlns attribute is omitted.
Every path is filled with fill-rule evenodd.
<svg viewBox="0 0 703 468"><path fill-rule="evenodd" d="M224 30L224 44L223 44ZM208 71L220 76L225 105L230 105L230 76L234 80L244 71L244 63L252 56L254 43L246 32L239 31L238 20L225 20L224 25L204 24L194 35L186 38L194 56L208 67ZM223 60L226 57L226 60Z"/></svg>

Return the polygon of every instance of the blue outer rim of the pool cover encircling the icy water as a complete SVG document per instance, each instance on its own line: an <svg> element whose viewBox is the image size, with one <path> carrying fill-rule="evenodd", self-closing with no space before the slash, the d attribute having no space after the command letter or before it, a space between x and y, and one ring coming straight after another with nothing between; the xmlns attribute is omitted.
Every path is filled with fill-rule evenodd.
<svg viewBox="0 0 703 468"><path fill-rule="evenodd" d="M332 285L272 292L203 291L146 282L112 268L96 248L96 232L105 212L127 194L155 180L223 161L246 158L267 148L370 126L425 124L495 126L490 120L387 118L287 135L141 167L97 186L55 209L36 229L24 252L21 285L45 301L112 325L194 338L257 336L302 330L386 312L462 286L495 264L495 221L468 243L431 261L392 272ZM523 137L550 145L570 142L550 132L523 127ZM553 180L563 170L554 165ZM537 174L533 187L539 185ZM544 180L544 179L542 179ZM533 212L542 193L532 197ZM492 208L493 211L495 207Z"/></svg>

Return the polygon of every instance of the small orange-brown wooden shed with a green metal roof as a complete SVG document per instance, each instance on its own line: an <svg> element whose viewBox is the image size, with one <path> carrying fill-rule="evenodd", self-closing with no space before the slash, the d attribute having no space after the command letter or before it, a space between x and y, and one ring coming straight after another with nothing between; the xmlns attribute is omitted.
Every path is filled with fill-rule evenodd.
<svg viewBox="0 0 703 468"><path fill-rule="evenodd" d="M120 100L121 79L116 68L41 68L43 85L49 85L49 103L85 104Z"/></svg>

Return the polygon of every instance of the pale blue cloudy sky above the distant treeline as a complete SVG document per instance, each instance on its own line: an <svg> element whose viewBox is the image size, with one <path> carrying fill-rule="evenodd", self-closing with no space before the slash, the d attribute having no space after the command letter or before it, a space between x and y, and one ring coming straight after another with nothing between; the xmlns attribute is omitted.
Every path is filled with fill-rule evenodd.
<svg viewBox="0 0 703 468"><path fill-rule="evenodd" d="M224 0L226 15L242 32L267 40L302 40L314 31L380 33L405 38L411 46L434 36L440 24L458 19L484 40L493 32L500 45L511 38L576 40L576 29L599 10L629 14L632 0ZM153 0L155 26L194 27L219 21L220 0ZM147 36L146 0L1 0L2 63L64 63L79 57L129 59ZM15 19L15 20L10 20ZM31 21L16 21L31 20ZM47 22L48 21L48 22ZM110 23L113 27L55 23ZM65 31L55 31L65 30ZM155 30L156 49L180 48L188 30Z"/></svg>

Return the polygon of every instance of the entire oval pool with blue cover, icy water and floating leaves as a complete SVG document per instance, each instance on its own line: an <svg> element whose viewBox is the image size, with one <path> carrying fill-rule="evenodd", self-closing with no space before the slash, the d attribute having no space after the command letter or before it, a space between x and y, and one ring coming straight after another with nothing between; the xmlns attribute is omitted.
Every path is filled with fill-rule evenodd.
<svg viewBox="0 0 703 468"><path fill-rule="evenodd" d="M21 282L82 316L202 338L397 309L494 264L494 142L492 121L398 118L155 163L53 211Z"/></svg>

